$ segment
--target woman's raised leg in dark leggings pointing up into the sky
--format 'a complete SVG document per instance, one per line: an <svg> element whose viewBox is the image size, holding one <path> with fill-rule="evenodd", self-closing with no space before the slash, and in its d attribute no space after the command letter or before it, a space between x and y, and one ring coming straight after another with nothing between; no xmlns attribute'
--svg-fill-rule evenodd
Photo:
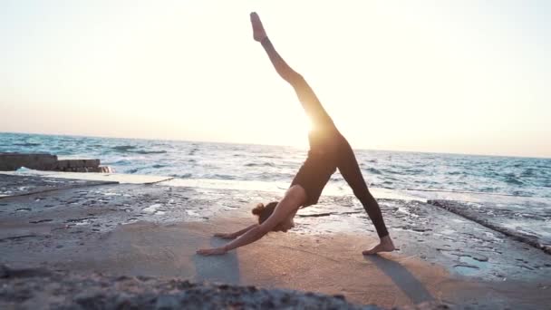
<svg viewBox="0 0 551 310"><path fill-rule="evenodd" d="M266 51L270 61L274 65L275 71L286 82L289 82L295 89L298 99L302 103L304 111L312 119L314 126L332 126L334 127L333 120L327 111L325 111L322 103L315 96L314 91L304 80L303 76L296 73L285 60L275 51L274 45L270 42L264 26L260 21L260 17L256 13L251 13L251 24L253 25L253 37L257 42L262 44Z"/></svg>

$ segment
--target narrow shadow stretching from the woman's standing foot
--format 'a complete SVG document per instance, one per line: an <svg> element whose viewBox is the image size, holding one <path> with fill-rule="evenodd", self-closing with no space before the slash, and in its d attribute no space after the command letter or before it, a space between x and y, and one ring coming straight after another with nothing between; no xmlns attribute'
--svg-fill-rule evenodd
<svg viewBox="0 0 551 310"><path fill-rule="evenodd" d="M391 259L380 257L378 255L366 256L365 260L371 261L375 266L378 266L382 272L389 276L396 286L401 291L410 297L414 304L420 304L422 302L430 302L434 300L434 297L430 295L430 292L423 286L423 284L411 275L410 271L400 263Z"/></svg>

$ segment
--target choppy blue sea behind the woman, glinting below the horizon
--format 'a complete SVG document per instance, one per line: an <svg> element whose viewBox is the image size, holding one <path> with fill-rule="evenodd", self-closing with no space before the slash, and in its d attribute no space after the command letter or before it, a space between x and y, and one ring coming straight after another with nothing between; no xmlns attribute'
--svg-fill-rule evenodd
<svg viewBox="0 0 551 310"><path fill-rule="evenodd" d="M397 197L465 201L465 208L492 210L479 212L480 217L493 217L551 245L551 159L354 151L372 189L385 189ZM100 159L116 173L168 176L196 186L281 191L288 188L307 149L0 132L0 152ZM327 193L351 195L352 191L337 172L324 190Z"/></svg>

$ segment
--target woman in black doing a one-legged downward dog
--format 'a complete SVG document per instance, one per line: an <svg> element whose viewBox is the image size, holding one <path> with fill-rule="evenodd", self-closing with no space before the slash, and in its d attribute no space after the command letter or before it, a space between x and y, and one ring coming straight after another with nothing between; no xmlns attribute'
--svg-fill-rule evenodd
<svg viewBox="0 0 551 310"><path fill-rule="evenodd" d="M299 73L295 73L275 51L256 13L251 14L251 24L255 40L264 47L275 71L293 86L304 111L312 119L313 129L308 135L310 150L291 187L285 192L285 197L279 202L271 202L266 206L259 204L253 209L253 214L258 216L258 224L231 234L215 234L216 237L238 238L224 247L200 249L198 254L225 254L229 250L255 242L270 231L285 232L293 228L295 226L293 218L298 208L317 203L325 184L337 168L353 189L356 198L362 202L381 239L378 245L363 251L362 254L393 251L394 245L384 225L381 209L367 189L348 141L337 130L331 117L304 78Z"/></svg>

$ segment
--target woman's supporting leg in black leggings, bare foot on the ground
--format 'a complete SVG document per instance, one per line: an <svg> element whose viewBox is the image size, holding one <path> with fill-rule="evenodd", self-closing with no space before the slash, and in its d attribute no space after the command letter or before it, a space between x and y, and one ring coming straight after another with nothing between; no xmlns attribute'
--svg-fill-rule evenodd
<svg viewBox="0 0 551 310"><path fill-rule="evenodd" d="M373 254L382 251L394 250L389 232L382 219L381 208L377 200L375 200L365 184L365 180L362 176L362 171L358 166L354 152L346 139L343 138L342 145L339 148L339 154L337 155L338 168L343 175L344 180L353 189L353 193L357 199L360 199L362 206L367 212L367 215L372 219L372 223L377 230L377 235L381 238L381 244L373 247L371 250L364 251L363 254Z"/></svg>

